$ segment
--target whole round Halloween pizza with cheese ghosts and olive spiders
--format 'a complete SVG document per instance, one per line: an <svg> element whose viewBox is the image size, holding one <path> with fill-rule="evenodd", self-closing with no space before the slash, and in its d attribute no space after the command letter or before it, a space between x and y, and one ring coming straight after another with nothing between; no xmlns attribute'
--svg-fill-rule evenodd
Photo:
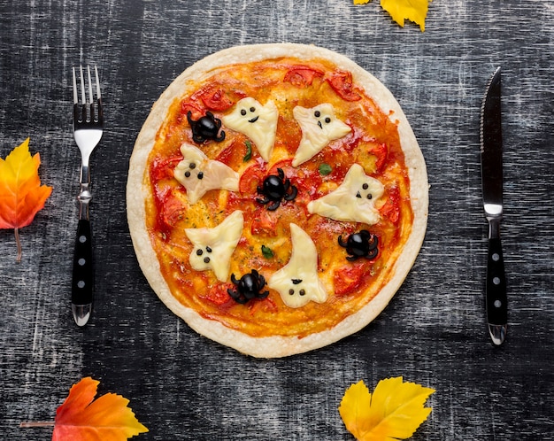
<svg viewBox="0 0 554 441"><path fill-rule="evenodd" d="M261 44L190 66L135 143L127 217L152 289L255 357L349 336L404 282L427 171L380 81L331 50Z"/></svg>

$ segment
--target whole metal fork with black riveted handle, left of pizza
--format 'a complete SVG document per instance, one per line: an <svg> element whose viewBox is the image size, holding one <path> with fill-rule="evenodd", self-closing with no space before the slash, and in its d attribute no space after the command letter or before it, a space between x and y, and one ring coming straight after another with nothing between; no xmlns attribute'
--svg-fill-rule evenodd
<svg viewBox="0 0 554 441"><path fill-rule="evenodd" d="M90 154L102 138L104 131L104 113L102 111L102 97L100 95L100 81L98 70L94 67L96 85L96 104L94 101L93 81L90 75L90 66L87 66L87 84L83 67L78 71L73 67L73 137L81 151L81 191L79 201L79 223L77 238L73 254L73 281L71 303L73 319L78 326L87 324L92 313L94 297L94 267L92 261L92 234L88 217L88 205L92 199L90 193L90 168L88 160ZM78 74L76 74L78 72ZM78 83L80 88L78 88ZM79 93L81 89L81 94ZM88 89L88 94L85 93ZM81 102L79 96L81 95Z"/></svg>

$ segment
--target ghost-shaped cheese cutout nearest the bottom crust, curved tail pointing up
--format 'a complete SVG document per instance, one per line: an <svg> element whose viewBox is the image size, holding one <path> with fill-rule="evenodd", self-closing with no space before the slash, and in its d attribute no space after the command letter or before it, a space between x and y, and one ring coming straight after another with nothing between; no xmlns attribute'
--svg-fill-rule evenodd
<svg viewBox="0 0 554 441"><path fill-rule="evenodd" d="M287 265L275 272L267 286L277 290L285 305L297 308L309 301L323 303L327 290L318 277L318 251L312 238L298 227L290 224L292 254Z"/></svg>

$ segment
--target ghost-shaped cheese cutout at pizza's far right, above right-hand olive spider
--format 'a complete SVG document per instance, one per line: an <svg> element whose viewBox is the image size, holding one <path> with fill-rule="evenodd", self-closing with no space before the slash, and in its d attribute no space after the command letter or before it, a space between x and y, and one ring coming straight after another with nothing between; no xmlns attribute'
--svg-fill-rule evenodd
<svg viewBox="0 0 554 441"><path fill-rule="evenodd" d="M375 201L383 195L383 185L368 176L358 164L350 166L342 184L323 197L308 204L310 213L334 219L335 221L377 223L381 216L375 208Z"/></svg>

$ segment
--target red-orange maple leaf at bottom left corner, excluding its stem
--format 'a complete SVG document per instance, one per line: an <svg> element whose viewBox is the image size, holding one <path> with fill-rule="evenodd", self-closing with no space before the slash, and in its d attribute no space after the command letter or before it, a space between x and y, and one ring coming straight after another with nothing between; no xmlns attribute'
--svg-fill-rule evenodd
<svg viewBox="0 0 554 441"><path fill-rule="evenodd" d="M99 383L86 377L73 384L56 412L52 441L119 441L148 432L127 398L106 393L93 401Z"/></svg>

